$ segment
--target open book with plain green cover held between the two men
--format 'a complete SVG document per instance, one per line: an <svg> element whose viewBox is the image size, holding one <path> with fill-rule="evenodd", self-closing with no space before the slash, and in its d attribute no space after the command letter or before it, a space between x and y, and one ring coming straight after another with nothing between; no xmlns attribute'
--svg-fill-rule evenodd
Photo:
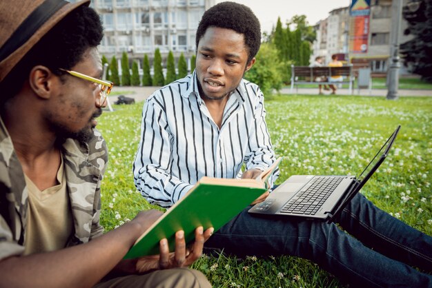
<svg viewBox="0 0 432 288"><path fill-rule="evenodd" d="M186 243L195 239L195 229L215 231L268 190L268 178L282 158L278 158L255 179L203 177L173 207L170 207L130 248L125 259L159 254L159 241L168 239L175 248L175 232L184 230Z"/></svg>

